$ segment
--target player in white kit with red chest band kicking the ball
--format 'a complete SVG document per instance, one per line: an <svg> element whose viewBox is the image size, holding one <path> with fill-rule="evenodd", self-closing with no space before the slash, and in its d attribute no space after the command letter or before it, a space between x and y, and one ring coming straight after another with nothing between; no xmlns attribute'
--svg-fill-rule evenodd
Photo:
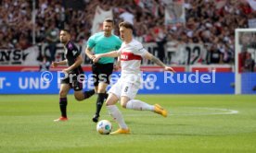
<svg viewBox="0 0 256 153"><path fill-rule="evenodd" d="M141 100L134 100L136 93L140 87L140 65L142 58L153 61L155 64L160 65L165 71L174 72L172 67L164 65L160 60L148 53L139 41L133 39L133 25L129 22L122 22L119 25L120 34L122 38L122 46L118 51L110 53L96 54L94 62L96 63L101 57L118 57L121 59L122 75L118 82L109 89L109 97L106 101L107 109L114 120L119 124L120 128L110 133L115 134L129 134L130 129L125 124L122 113L115 105L118 100L121 101L123 108L138 110L138 111L151 111L156 112L167 117L168 112L163 109L159 104L149 105Z"/></svg>

